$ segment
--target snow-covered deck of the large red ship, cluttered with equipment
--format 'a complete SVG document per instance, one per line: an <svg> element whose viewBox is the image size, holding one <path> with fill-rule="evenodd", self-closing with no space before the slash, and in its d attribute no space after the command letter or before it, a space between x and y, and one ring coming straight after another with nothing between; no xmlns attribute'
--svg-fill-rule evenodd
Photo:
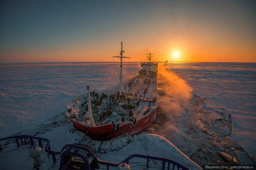
<svg viewBox="0 0 256 170"><path fill-rule="evenodd" d="M120 125L136 120L154 111L157 107L156 83L157 76L150 78L146 72L124 85L122 93L91 92L93 118L96 126L118 122ZM149 80L150 79L150 80ZM74 114L78 122L83 121L83 115L88 110L88 95L82 95L67 105L68 115Z"/></svg>

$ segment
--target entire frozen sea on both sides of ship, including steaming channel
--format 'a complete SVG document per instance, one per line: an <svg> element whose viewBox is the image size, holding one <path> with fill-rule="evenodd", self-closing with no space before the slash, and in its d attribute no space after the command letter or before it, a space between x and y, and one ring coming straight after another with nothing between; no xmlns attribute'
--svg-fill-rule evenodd
<svg viewBox="0 0 256 170"><path fill-rule="evenodd" d="M124 64L123 77L131 78L139 67ZM119 68L118 63L1 64L0 137L65 111L87 85L112 91ZM256 153L255 64L160 64L158 96L156 119L142 133L166 137L199 164L221 162L219 151Z"/></svg>

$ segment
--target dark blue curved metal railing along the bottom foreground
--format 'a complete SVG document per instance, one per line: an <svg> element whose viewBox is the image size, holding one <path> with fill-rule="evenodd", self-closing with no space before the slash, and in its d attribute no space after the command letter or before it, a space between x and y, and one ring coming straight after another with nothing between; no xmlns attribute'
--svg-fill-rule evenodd
<svg viewBox="0 0 256 170"><path fill-rule="evenodd" d="M56 163L55 156L60 155L60 157L61 157L60 169L67 168L67 165L64 163L64 160L63 160L64 156L75 156L75 157L80 157L84 161L85 170L90 170L90 162L91 162L90 160L94 160L98 164L105 165L106 169L108 170L109 167L117 167L121 163L129 164L129 161L131 161L131 159L133 159L133 158L146 159L147 162L145 163L145 167L147 169L150 168L150 163L149 163L150 161L160 161L162 163L162 167L159 167L161 170L170 170L170 169L171 170L174 170L174 169L179 170L180 168L182 170L189 170L182 164L177 163L171 159L168 159L165 157L152 157L152 156L141 155L141 154L131 155L131 156L125 158L124 160L122 160L121 162L103 161L95 155L95 153L91 147L89 147L88 145L84 145L84 144L66 144L61 149L61 151L54 151L54 150L51 150L50 141L48 139L41 138L41 137L29 136L29 135L6 137L6 138L0 139L0 141L6 141L6 140L10 140L10 139L14 139L17 147L19 147L20 145L30 144L31 146L38 145L41 148L45 148L45 151L48 154L52 155L53 163ZM7 144L9 144L9 142L6 142L5 144L0 144L0 150L3 149L3 148L1 148L2 145L7 145ZM89 159L89 158L92 158L92 159Z"/></svg>

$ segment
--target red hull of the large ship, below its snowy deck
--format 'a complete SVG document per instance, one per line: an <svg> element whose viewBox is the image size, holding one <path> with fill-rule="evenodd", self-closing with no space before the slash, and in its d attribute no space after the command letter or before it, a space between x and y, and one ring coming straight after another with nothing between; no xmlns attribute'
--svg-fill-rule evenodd
<svg viewBox="0 0 256 170"><path fill-rule="evenodd" d="M155 119L156 109L147 115L145 115L140 120L136 121L135 124L128 122L120 125L119 129L114 131L113 124L105 124L102 126L88 127L80 124L76 120L70 118L71 122L81 131L84 131L89 137L94 140L108 140L112 137L117 137L123 134L127 136L133 136L141 132L143 129L147 128L149 124Z"/></svg>

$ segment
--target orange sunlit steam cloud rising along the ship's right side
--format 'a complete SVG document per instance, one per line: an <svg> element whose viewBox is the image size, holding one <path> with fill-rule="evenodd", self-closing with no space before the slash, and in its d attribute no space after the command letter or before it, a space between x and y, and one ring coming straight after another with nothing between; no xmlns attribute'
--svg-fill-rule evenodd
<svg viewBox="0 0 256 170"><path fill-rule="evenodd" d="M169 72L163 65L158 71L159 108L153 124L154 133L159 133L175 140L179 118L182 112L191 106L192 88L174 72ZM155 131L154 131L155 130Z"/></svg>

